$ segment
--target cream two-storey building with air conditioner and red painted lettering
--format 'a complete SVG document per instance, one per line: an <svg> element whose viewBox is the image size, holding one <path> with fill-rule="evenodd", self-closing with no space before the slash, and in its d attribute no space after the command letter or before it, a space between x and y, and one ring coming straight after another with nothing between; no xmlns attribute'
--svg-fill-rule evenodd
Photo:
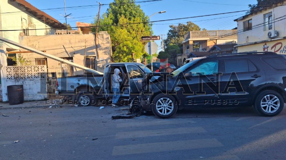
<svg viewBox="0 0 286 160"><path fill-rule="evenodd" d="M245 15L237 21L238 52L286 54L286 1Z"/></svg>

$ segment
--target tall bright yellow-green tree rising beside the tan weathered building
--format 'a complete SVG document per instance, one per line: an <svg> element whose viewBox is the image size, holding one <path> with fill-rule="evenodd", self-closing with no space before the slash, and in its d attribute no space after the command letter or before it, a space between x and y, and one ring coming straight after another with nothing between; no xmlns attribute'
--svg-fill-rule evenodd
<svg viewBox="0 0 286 160"><path fill-rule="evenodd" d="M115 62L131 62L134 58L142 58L147 53L141 41L141 36L152 35L152 24L142 23L149 21L140 5L135 4L135 0L114 0L110 3L107 11L100 17L99 31L107 31L112 41L113 59ZM131 25L118 25L138 23ZM95 17L94 25L97 25ZM92 28L95 32L96 28Z"/></svg>

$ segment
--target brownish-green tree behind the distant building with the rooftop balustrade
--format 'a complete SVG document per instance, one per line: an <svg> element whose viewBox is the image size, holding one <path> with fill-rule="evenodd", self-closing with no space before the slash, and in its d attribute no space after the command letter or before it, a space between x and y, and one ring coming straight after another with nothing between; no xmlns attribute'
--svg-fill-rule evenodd
<svg viewBox="0 0 286 160"><path fill-rule="evenodd" d="M200 27L192 22L187 24L179 23L178 25L170 25L167 33L167 39L164 40L164 45L178 45L184 40L184 35L189 31L200 31Z"/></svg>

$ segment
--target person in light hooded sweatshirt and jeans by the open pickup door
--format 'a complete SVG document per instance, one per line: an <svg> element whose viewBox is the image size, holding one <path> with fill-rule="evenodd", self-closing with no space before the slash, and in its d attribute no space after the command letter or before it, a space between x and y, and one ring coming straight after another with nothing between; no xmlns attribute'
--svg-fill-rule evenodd
<svg viewBox="0 0 286 160"><path fill-rule="evenodd" d="M113 98L112 98L112 107L119 107L116 105L119 97L120 97L120 89L119 89L119 82L122 81L122 79L119 76L120 71L118 68L114 69L114 75L112 75L112 91L113 91Z"/></svg>

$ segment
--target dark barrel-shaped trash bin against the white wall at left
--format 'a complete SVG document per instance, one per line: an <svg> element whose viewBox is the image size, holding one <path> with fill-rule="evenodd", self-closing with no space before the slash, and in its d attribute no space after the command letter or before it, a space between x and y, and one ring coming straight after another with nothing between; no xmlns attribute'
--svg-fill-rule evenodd
<svg viewBox="0 0 286 160"><path fill-rule="evenodd" d="M23 85L7 86L7 95L10 105L22 104L24 102Z"/></svg>

